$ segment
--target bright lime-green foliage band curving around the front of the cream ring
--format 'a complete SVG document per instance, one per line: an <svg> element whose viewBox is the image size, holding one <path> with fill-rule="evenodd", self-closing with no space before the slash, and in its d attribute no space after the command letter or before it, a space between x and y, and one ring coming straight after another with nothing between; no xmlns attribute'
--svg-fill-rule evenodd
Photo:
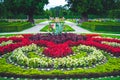
<svg viewBox="0 0 120 80"><path fill-rule="evenodd" d="M84 68L77 68L75 70L50 70L50 71L42 71L42 70L36 70L36 69L23 69L19 66L11 65L6 62L6 58L8 57L5 56L4 58L0 59L0 74L2 73L3 76L7 76L6 74L14 74L12 77L19 77L19 75L24 75L24 77L32 77L32 78L38 78L37 75L39 75L39 78L44 78L44 76L48 76L48 78L52 78L50 76L60 76L59 78L66 78L65 76L69 76L70 78L75 77L77 78L90 78L90 77L95 77L95 75L98 75L96 77L100 76L110 76L107 75L107 72L114 72L114 71L119 71L119 65L120 59L119 58L112 58L108 57L108 61L103 64L103 65L97 65L95 68L90 68L90 69L84 69ZM104 74L105 73L105 74ZM5 74L5 75L4 75ZM93 75L85 75L85 74L93 74ZM103 74L103 75L102 75ZM112 73L114 74L114 73ZM31 76L34 75L34 76ZM64 76L63 76L64 75ZM78 76L77 76L78 75Z"/></svg>

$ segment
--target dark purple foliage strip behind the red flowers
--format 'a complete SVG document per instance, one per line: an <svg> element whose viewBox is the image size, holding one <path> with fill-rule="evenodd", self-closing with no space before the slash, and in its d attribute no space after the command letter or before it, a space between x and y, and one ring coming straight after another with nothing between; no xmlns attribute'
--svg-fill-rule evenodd
<svg viewBox="0 0 120 80"><path fill-rule="evenodd" d="M46 41L51 41L56 44L59 43L64 43L66 41L79 41L79 40L85 40L86 37L79 35L79 34L74 34L74 33L62 33L60 35L53 35L53 34L35 34L29 38L32 41L37 41L37 40L46 40Z"/></svg>

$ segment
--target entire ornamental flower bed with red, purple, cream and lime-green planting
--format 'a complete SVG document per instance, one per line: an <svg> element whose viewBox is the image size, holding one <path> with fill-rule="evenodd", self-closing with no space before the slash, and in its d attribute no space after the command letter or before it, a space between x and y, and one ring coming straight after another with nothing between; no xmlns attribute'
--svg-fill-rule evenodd
<svg viewBox="0 0 120 80"><path fill-rule="evenodd" d="M102 38L98 34L24 34L19 37L2 37L0 38L0 57L2 57L0 58L0 75L14 74L13 77L116 76L120 73L119 44L119 39ZM9 67L12 69L8 69ZM17 69L21 73L11 71Z"/></svg>

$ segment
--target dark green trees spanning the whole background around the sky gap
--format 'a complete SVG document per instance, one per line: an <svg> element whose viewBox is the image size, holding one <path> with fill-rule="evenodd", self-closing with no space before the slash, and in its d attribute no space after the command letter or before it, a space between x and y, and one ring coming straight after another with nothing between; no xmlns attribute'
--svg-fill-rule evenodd
<svg viewBox="0 0 120 80"><path fill-rule="evenodd" d="M82 21L88 20L88 15L120 15L120 0L66 0L67 5L57 6L44 11L48 0L2 0L0 15L27 15L28 21L34 23L34 15L52 17L81 16Z"/></svg>

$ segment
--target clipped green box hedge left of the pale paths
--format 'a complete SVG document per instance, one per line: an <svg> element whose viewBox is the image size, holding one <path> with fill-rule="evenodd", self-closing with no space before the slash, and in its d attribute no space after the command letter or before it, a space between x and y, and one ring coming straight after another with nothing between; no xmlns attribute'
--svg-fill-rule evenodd
<svg viewBox="0 0 120 80"><path fill-rule="evenodd" d="M19 32L30 27L29 22L0 22L0 32Z"/></svg>

